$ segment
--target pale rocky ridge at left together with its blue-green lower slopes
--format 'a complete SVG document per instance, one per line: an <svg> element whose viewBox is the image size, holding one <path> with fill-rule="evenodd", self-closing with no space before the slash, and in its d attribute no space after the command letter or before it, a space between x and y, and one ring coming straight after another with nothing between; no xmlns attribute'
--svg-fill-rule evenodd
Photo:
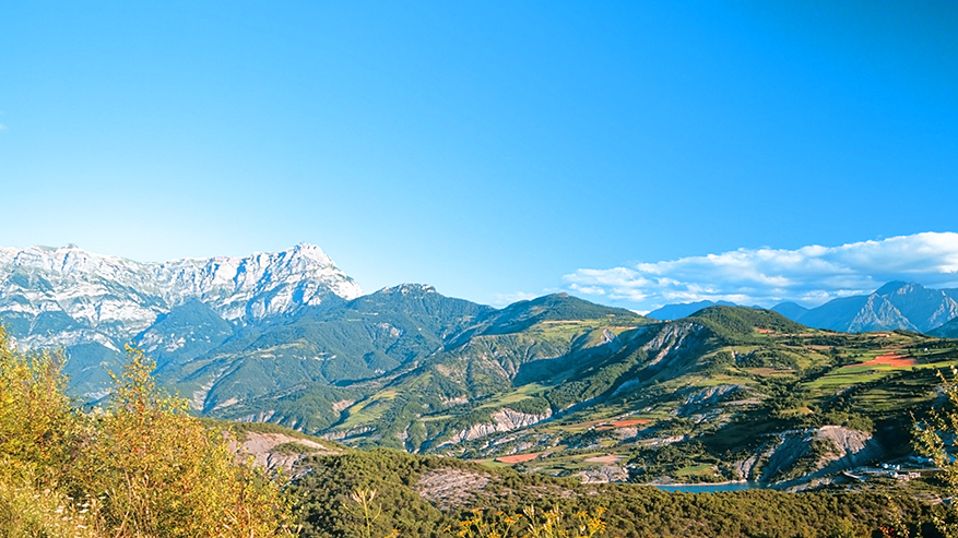
<svg viewBox="0 0 958 538"><path fill-rule="evenodd" d="M127 343L151 352L186 348L198 355L237 327L360 295L331 258L307 243L246 258L163 263L75 246L0 248L0 320L21 348L64 348L68 373L91 398L105 381L103 366ZM181 333L169 331L174 325Z"/></svg>

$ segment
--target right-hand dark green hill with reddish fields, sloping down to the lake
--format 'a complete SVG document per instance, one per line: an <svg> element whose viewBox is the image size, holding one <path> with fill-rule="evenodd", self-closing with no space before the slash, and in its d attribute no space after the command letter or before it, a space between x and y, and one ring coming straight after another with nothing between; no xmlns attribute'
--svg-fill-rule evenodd
<svg viewBox="0 0 958 538"><path fill-rule="evenodd" d="M578 399L571 413L445 452L599 480L610 479L602 469L636 481L807 480L908 453L911 414L958 358L953 340L814 331L726 307L619 338L540 393L554 410ZM532 458L502 457L515 453Z"/></svg>

